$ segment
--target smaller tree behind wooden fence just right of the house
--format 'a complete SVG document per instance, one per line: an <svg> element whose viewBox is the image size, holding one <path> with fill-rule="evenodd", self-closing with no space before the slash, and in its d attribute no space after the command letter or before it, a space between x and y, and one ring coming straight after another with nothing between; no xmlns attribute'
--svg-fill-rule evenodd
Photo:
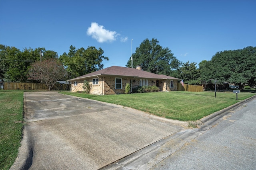
<svg viewBox="0 0 256 170"><path fill-rule="evenodd" d="M180 78L184 80L186 84L201 84L200 81L200 72L196 68L196 63L184 63L180 68L178 68L180 72Z"/></svg>

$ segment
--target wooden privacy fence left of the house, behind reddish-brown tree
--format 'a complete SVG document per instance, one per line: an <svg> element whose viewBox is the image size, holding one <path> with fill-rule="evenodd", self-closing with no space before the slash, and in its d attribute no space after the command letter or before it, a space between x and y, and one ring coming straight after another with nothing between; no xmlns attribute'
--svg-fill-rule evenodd
<svg viewBox="0 0 256 170"><path fill-rule="evenodd" d="M70 90L71 84L56 83L52 90ZM4 90L48 90L44 83L4 82Z"/></svg>

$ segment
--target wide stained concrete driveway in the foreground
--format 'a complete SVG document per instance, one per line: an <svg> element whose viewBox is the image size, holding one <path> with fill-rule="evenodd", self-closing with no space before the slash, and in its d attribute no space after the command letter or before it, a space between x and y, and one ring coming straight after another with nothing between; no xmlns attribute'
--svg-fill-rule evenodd
<svg viewBox="0 0 256 170"><path fill-rule="evenodd" d="M25 92L24 112L31 170L102 168L184 129L142 111L57 92Z"/></svg>

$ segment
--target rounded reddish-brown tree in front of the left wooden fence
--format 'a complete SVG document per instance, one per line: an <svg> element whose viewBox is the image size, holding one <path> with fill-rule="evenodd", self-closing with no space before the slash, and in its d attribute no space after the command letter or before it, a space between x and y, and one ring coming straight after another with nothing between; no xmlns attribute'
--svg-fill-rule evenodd
<svg viewBox="0 0 256 170"><path fill-rule="evenodd" d="M42 81L49 90L52 90L54 84L64 76L64 66L57 59L35 62L28 72L28 79Z"/></svg>

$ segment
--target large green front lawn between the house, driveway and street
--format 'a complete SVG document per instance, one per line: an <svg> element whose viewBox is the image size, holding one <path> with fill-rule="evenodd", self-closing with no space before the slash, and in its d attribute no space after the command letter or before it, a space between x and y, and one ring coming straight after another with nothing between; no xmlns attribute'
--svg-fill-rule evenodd
<svg viewBox="0 0 256 170"><path fill-rule="evenodd" d="M84 95L84 98L132 107L150 114L182 121L201 119L204 116L255 95L252 93L241 93L238 94L238 99L240 100L236 100L236 94L232 92L218 93L217 98L214 97L214 92L178 91L103 96L72 92L62 93L78 97L83 97Z"/></svg>

